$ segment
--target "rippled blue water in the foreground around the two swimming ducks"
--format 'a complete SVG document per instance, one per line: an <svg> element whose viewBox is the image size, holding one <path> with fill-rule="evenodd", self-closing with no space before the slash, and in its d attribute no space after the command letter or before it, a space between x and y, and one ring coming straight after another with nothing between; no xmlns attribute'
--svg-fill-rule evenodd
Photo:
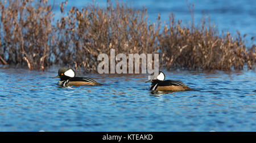
<svg viewBox="0 0 256 143"><path fill-rule="evenodd" d="M61 88L57 68L0 68L0 131L256 131L255 71L165 71L199 91L152 94L147 75Z"/></svg>

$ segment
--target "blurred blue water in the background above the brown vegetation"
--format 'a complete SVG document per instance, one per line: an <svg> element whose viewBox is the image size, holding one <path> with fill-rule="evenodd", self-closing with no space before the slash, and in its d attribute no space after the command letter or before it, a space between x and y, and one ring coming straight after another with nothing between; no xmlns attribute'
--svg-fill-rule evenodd
<svg viewBox="0 0 256 143"><path fill-rule="evenodd" d="M115 1L112 1L115 3ZM188 25L189 21L192 21L189 8L185 0L122 0L119 2L127 2L129 6L134 8L147 8L148 20L154 23L158 18L158 14L161 16L162 24L164 21L169 22L169 15L174 13L176 20L182 20L185 25ZM53 2L51 2L53 3ZM66 9L69 10L72 6L85 7L91 4L91 0L72 0L67 3ZM105 0L96 0L101 7L106 7ZM210 16L210 23L214 24L219 34L221 31L237 34L237 31L243 36L247 34L245 40L246 45L256 44L256 1L254 0L212 0L212 1L200 1L200 0L188 0L188 4L195 4L195 24L199 24L203 15ZM59 19L60 8L59 2L55 2L56 15L55 18ZM208 22L208 20L207 20ZM251 41L251 37L255 37Z"/></svg>

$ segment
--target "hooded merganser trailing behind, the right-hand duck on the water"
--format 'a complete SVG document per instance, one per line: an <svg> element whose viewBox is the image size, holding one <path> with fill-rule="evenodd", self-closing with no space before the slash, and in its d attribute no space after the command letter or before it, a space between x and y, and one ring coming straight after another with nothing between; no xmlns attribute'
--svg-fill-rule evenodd
<svg viewBox="0 0 256 143"><path fill-rule="evenodd" d="M185 90L193 90L181 81L164 80L166 77L163 72L159 71L159 75L154 80L148 80L146 83L151 82L150 90L152 91L172 91L179 92Z"/></svg>

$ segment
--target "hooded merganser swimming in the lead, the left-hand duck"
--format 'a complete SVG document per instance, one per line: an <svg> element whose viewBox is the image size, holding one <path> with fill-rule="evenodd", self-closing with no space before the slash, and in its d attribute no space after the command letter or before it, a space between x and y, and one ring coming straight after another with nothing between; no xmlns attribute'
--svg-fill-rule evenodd
<svg viewBox="0 0 256 143"><path fill-rule="evenodd" d="M72 68L63 67L58 71L58 75L53 78L60 78L59 85L67 86L80 86L80 85L101 85L97 81L88 77L76 77L76 73Z"/></svg>

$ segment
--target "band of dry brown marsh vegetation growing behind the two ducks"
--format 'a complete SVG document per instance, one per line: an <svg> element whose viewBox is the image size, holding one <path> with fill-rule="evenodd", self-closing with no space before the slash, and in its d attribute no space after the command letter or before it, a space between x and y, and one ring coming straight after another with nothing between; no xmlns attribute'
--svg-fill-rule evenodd
<svg viewBox="0 0 256 143"><path fill-rule="evenodd" d="M90 72L97 71L98 54L109 54L110 49L126 55L159 53L160 66L168 69L232 70L253 68L256 62L255 45L246 46L239 32L236 37L220 36L205 18L196 26L192 5L188 26L174 14L169 23L162 25L159 15L151 24L146 8L125 3L100 7L92 2L70 10L65 5L60 3L61 16L55 20L47 0L1 1L0 63L30 70L57 64Z"/></svg>

